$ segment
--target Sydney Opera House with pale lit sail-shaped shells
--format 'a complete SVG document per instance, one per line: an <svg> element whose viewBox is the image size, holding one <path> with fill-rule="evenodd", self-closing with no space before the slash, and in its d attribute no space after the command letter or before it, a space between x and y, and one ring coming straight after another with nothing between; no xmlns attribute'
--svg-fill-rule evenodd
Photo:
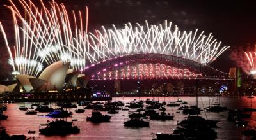
<svg viewBox="0 0 256 140"><path fill-rule="evenodd" d="M70 63L64 64L58 61L46 67L38 78L26 74L17 74L17 83L12 85L0 85L0 92L46 92L72 90L84 88L88 83L88 78L84 74L68 69Z"/></svg>

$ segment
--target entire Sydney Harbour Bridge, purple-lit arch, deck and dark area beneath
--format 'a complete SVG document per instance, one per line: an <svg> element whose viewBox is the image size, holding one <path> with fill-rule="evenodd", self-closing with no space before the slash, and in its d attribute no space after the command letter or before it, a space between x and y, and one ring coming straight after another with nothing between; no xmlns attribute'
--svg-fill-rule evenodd
<svg viewBox="0 0 256 140"><path fill-rule="evenodd" d="M123 94L129 93L124 91L136 89L132 91L142 95L147 95L145 92L195 95L198 85L211 87L211 95L216 94L216 89L212 88L220 90L223 88L221 86L227 86L230 92L235 90L235 80L227 73L194 60L166 54L140 53L115 57L87 67L84 72L91 78L89 85L96 86L98 90ZM167 90L168 84L172 85L173 90ZM156 85L160 89L156 89ZM180 91L178 88L183 89ZM227 88L225 90L227 92Z"/></svg>

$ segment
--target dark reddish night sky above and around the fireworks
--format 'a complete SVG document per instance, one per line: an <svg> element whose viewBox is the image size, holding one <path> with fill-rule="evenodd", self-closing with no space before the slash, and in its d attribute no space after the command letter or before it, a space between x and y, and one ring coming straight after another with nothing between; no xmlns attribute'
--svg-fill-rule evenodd
<svg viewBox="0 0 256 140"><path fill-rule="evenodd" d="M13 0L15 1L15 0ZM172 21L182 30L212 32L222 45L247 46L253 44L256 37L256 4L253 1L236 0L56 0L64 3L68 10L89 8L89 30L115 24L122 27L127 22L161 24L164 20ZM34 3L38 1L34 0ZM0 0L0 21L12 40L12 17L3 6L7 0ZM228 72L234 66L230 60L230 50L223 53L211 66ZM10 67L6 65L6 46L0 35L0 78L8 76Z"/></svg>

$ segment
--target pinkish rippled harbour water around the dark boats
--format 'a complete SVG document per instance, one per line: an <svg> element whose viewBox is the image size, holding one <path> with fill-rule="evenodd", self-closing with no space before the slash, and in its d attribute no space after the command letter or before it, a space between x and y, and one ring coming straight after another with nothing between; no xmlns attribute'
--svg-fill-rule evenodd
<svg viewBox="0 0 256 140"><path fill-rule="evenodd" d="M173 102L177 97L140 97L141 100L145 101L146 99L154 99L155 101L166 101ZM182 101L188 102L188 106L196 104L196 97L180 97ZM113 97L113 101L139 101L139 97ZM208 107L209 104L216 103L216 97L198 97L198 106L200 108ZM103 101L104 102L104 101ZM256 98L248 99L247 97L220 97L220 102L228 108L240 108L241 106L256 108ZM241 104L242 102L242 104ZM186 116L182 113L177 113L177 108L179 107L166 107L168 113L174 113L174 119L170 121L159 121L159 120L150 120L150 127L143 128L129 128L124 127L123 123L125 118L128 117L129 111L120 110L118 114L111 115L111 122L106 123L92 123L87 122L86 117L91 116L92 109L86 109L84 113L75 113L75 109L72 108L73 119L77 119L74 122L74 125L77 125L80 128L79 134L72 134L65 137L61 136L43 136L40 135L38 130L40 129L40 124L47 123L47 120L52 120L52 118L46 116L38 115L47 115L47 113L38 113L37 115L25 115L25 111L20 111L19 106L28 106L30 107L32 103L9 103L7 111L4 111L5 115L8 115L8 120L2 120L1 125L6 128L8 134L24 134L27 137L34 139L152 139L154 134L157 132L162 133L172 133L173 129L177 127L177 123L181 120L184 120ZM73 102L76 104L76 102ZM55 108L55 103L51 104L52 108ZM77 106L77 108L83 108ZM130 111L135 111L136 109L130 109ZM102 112L106 114L106 112ZM246 129L246 127L236 127L234 122L227 121L228 112L221 113L210 113L202 111L200 116L204 118L209 118L211 120L220 120L217 123L218 128L216 132L218 134L217 139L250 139L250 137L243 136L241 131ZM67 118L71 121L72 118ZM256 126L256 113L252 113L250 122L248 123L249 127ZM35 134L28 134L29 130L35 130ZM152 137L153 135L153 137Z"/></svg>

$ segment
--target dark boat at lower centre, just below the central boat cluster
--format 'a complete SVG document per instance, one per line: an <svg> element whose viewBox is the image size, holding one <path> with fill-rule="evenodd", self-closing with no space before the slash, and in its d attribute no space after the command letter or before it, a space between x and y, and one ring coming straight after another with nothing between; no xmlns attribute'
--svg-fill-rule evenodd
<svg viewBox="0 0 256 140"><path fill-rule="evenodd" d="M131 118L124 122L125 127L149 127L149 122L142 118Z"/></svg>

